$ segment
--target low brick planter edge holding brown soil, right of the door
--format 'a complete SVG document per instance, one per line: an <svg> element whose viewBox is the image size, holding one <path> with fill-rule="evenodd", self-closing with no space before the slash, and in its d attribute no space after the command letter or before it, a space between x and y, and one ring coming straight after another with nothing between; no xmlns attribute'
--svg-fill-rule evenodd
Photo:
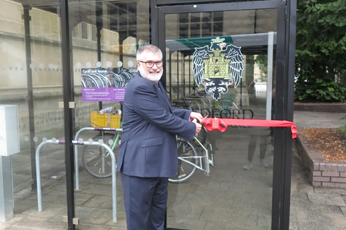
<svg viewBox="0 0 346 230"><path fill-rule="evenodd" d="M295 141L298 154L306 166L313 186L346 188L346 162L328 162L304 142L304 137Z"/></svg>

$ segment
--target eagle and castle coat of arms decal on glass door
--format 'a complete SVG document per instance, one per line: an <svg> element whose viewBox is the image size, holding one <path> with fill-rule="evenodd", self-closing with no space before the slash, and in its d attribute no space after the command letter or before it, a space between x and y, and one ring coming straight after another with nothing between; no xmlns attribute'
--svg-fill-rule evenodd
<svg viewBox="0 0 346 230"><path fill-rule="evenodd" d="M228 86L237 88L244 70L241 47L226 46L225 39L212 39L210 48L194 48L192 68L197 86L203 84L206 93L212 93L215 100L221 93L228 92ZM226 48L224 48L226 46Z"/></svg>

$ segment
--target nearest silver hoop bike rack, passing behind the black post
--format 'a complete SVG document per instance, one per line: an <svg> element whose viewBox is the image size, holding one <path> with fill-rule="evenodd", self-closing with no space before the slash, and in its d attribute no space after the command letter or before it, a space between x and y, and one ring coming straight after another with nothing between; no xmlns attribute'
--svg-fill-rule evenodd
<svg viewBox="0 0 346 230"><path fill-rule="evenodd" d="M53 140L47 140L46 142L42 142L39 144L36 150L36 180L37 180L37 205L38 205L38 211L39 213L42 212L42 191L41 191L41 171L39 170L39 151L41 150L42 146L46 144L64 144L64 140L56 140L53 142ZM100 146L103 148L106 148L109 153L111 153L111 189L112 189L112 201L113 201L113 222L117 222L117 216L116 216L116 157L111 151L111 148L107 146L107 144L100 144L99 142L78 142L73 140L73 144L76 145L94 145L94 146ZM78 159L75 160L75 162L78 162Z"/></svg>

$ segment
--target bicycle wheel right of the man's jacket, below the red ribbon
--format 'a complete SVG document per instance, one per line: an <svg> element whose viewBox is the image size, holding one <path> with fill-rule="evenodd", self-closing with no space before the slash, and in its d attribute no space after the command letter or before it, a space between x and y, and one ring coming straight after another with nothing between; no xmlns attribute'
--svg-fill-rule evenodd
<svg viewBox="0 0 346 230"><path fill-rule="evenodd" d="M189 180L192 175L196 172L196 167L192 164L198 165L199 158L197 158L197 147L190 142L190 140L187 140L182 137L178 137L177 140L177 147L178 147L178 171L176 173L176 176L173 178L169 178L168 182L179 184L183 183L186 180ZM186 158L181 158L186 157ZM183 161L182 159L192 163L189 164L188 162Z"/></svg>

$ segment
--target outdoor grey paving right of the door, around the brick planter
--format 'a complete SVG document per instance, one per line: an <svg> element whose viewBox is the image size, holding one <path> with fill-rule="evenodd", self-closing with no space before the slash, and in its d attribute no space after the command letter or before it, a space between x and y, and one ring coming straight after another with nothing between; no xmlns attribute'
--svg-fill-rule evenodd
<svg viewBox="0 0 346 230"><path fill-rule="evenodd" d="M298 128L338 128L345 124L343 113L295 111ZM314 188L293 145L291 184L291 230L346 229L346 190Z"/></svg>

